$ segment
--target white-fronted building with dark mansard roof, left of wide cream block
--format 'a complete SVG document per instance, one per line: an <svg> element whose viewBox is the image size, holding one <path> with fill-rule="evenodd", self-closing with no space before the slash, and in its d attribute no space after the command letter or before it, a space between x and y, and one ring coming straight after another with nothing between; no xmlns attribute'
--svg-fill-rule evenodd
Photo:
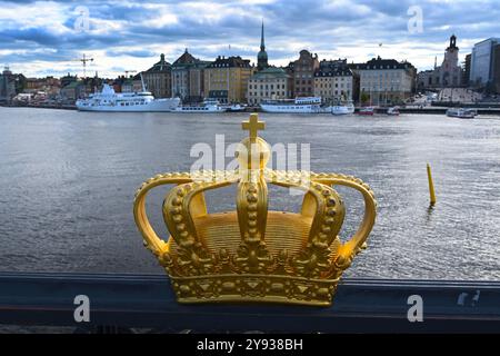
<svg viewBox="0 0 500 356"><path fill-rule="evenodd" d="M322 60L314 72L314 97L327 103L354 100L357 78L347 59Z"/></svg>

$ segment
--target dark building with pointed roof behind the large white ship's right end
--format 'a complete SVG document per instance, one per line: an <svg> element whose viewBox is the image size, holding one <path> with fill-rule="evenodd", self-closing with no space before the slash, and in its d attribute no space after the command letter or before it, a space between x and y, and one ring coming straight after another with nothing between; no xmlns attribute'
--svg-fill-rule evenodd
<svg viewBox="0 0 500 356"><path fill-rule="evenodd" d="M170 98L172 96L172 72L171 65L160 56L160 61L150 69L142 72L146 88L152 92L154 98Z"/></svg>

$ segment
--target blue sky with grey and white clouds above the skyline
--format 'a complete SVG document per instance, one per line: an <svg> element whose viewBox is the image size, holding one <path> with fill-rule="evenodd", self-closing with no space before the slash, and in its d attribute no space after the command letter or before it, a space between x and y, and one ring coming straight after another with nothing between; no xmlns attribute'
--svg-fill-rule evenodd
<svg viewBox="0 0 500 356"><path fill-rule="evenodd" d="M420 14L422 21L420 22ZM361 62L380 55L419 69L442 60L451 33L460 59L473 43L500 37L498 0L172 0L2 1L0 66L27 76L146 70L186 48L254 61L260 22L270 63L287 65L306 48L323 58ZM380 46L382 43L382 46Z"/></svg>

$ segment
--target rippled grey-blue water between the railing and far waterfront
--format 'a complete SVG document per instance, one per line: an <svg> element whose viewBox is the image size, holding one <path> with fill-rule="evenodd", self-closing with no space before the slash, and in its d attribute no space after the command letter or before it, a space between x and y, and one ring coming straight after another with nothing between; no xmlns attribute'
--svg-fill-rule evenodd
<svg viewBox="0 0 500 356"><path fill-rule="evenodd" d="M261 113L268 142L310 142L311 168L356 175L379 201L369 249L348 276L500 279L500 118ZM189 170L197 142L241 140L247 113L83 113L0 108L0 270L162 273L141 243L133 194L158 172ZM229 159L228 159L229 161ZM438 204L429 209L426 164ZM163 237L160 206L148 205ZM346 238L362 212L346 195ZM300 200L273 189L272 208ZM233 190L208 197L230 209Z"/></svg>

